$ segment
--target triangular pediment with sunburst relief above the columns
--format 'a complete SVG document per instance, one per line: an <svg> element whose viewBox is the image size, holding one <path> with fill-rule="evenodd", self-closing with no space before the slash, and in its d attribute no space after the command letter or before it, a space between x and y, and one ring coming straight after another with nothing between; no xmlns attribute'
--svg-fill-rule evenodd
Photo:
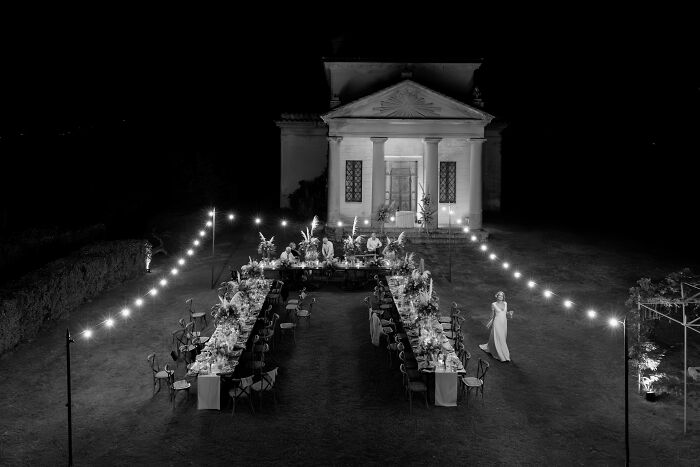
<svg viewBox="0 0 700 467"><path fill-rule="evenodd" d="M333 109L321 118L326 123L334 118L389 118L481 120L488 124L493 116L414 81L404 80Z"/></svg>

